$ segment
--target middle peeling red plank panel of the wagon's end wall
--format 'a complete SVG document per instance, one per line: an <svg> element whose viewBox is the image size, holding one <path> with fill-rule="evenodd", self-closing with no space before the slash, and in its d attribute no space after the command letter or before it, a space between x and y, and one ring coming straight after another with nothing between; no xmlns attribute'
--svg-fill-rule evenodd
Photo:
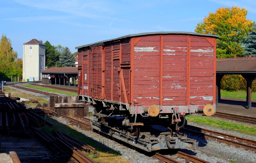
<svg viewBox="0 0 256 163"><path fill-rule="evenodd" d="M187 36L162 36L163 105L187 105Z"/></svg>

